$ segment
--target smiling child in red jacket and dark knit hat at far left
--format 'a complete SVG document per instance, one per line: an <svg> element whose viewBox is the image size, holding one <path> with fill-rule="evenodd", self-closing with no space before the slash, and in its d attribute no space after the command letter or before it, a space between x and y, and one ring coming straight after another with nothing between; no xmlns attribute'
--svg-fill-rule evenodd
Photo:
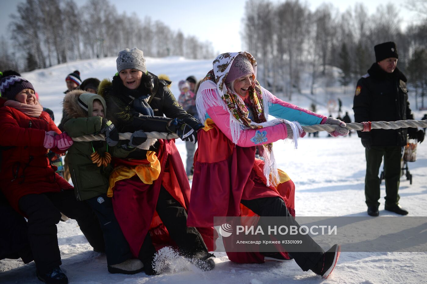
<svg viewBox="0 0 427 284"><path fill-rule="evenodd" d="M0 109L1 191L9 204L28 219L28 238L37 277L46 283L67 283L61 271L56 224L61 212L75 219L94 249L105 244L91 208L77 201L73 187L50 165L48 149L64 153L73 140L61 133L35 97L32 84L3 73L0 92L7 100Z"/></svg>

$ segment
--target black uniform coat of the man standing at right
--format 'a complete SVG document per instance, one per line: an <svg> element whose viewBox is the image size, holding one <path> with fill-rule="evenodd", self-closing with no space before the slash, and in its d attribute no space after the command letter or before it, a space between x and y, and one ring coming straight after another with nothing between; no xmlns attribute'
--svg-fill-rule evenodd
<svg viewBox="0 0 427 284"><path fill-rule="evenodd" d="M387 73L374 63L357 82L354 95L354 122L398 121L413 119L408 102L407 78L395 69ZM408 131L415 128L372 129L357 131L359 137L370 136L373 146L404 146Z"/></svg>

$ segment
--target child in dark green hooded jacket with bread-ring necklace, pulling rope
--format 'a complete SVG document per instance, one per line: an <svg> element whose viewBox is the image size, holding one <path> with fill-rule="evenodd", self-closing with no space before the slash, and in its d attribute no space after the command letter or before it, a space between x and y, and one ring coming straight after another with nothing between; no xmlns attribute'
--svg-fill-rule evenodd
<svg viewBox="0 0 427 284"><path fill-rule="evenodd" d="M64 98L64 112L68 120L64 129L71 137L86 134L109 132L116 133L112 141L75 142L68 149L68 163L74 193L77 200L85 200L94 210L104 232L105 253L107 255L108 272L134 274L143 270L138 259L132 259L129 244L114 216L111 197L107 197L108 177L112 171L111 156L126 157L137 145L146 140L142 131L132 135L129 142L122 140L116 145L118 133L114 125L105 119L105 101L96 94L73 90ZM110 154L111 153L111 154Z"/></svg>

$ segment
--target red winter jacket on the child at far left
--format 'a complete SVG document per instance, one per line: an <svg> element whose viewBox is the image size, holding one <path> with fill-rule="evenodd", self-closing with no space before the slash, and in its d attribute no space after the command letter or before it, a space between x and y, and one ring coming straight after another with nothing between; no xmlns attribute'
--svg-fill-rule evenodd
<svg viewBox="0 0 427 284"><path fill-rule="evenodd" d="M0 123L0 185L16 211L20 212L18 201L24 195L73 189L55 173L57 168L50 165L47 149L43 147L47 131L61 133L49 114L42 112L39 117L29 117L13 107L2 107ZM58 148L52 151L63 152Z"/></svg>

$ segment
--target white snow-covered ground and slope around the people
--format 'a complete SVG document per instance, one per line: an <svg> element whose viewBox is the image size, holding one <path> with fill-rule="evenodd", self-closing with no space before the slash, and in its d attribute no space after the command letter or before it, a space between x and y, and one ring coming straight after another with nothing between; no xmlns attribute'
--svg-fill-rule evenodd
<svg viewBox="0 0 427 284"><path fill-rule="evenodd" d="M211 61L190 61L183 58L147 58L149 71L168 74L174 82L188 75L202 77L211 68ZM55 112L56 123L61 117L61 101L65 90L65 76L75 69L82 72L81 78L90 76L111 78L115 72L115 58L77 61L58 65L46 70L23 74L35 86L41 103ZM339 90L337 87L336 90ZM173 93L178 93L177 83ZM352 93L352 91L350 92ZM308 108L311 95L294 96L292 103ZM336 93L316 94L318 112L326 113L326 102L340 97L343 110L351 111L352 95ZM411 104L412 106L414 104ZM415 118L422 113L416 112ZM297 216L367 216L364 203L365 155L357 135L327 138L304 137L293 144L275 143L275 156L279 168L289 174L296 185L295 208ZM185 162L185 145L176 141ZM401 179L401 205L409 210L409 216L427 216L427 142L418 145L418 159L409 163L413 175L412 185ZM380 216L395 216L383 209L384 183L381 185ZM333 274L324 280L312 272L302 272L294 261L266 264L235 264L228 261L225 253L215 253L216 267L213 271L201 272L183 260L175 260L172 271L161 275L146 276L109 274L105 255L93 252L74 220L58 224L58 242L62 266L70 283L427 283L427 254L425 252L343 252ZM324 248L329 249L329 248ZM40 283L35 278L34 263L24 265L21 261L0 261L0 283Z"/></svg>

